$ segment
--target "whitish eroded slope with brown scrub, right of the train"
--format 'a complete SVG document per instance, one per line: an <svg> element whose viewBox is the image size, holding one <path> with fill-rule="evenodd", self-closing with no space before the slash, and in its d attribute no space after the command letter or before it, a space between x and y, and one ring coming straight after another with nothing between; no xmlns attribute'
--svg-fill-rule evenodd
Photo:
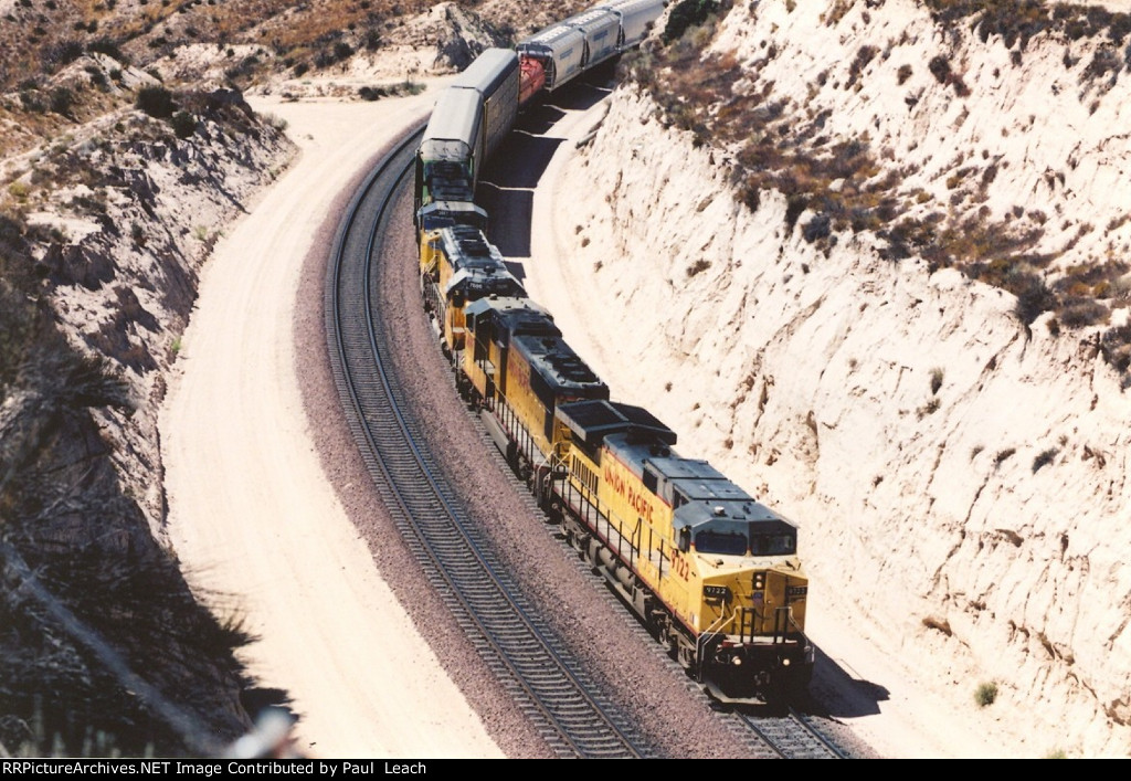
<svg viewBox="0 0 1131 781"><path fill-rule="evenodd" d="M798 520L828 624L995 684L1011 754L1125 756L1126 42L943 5L735 3L683 38L717 93L619 94L566 173L571 342Z"/></svg>

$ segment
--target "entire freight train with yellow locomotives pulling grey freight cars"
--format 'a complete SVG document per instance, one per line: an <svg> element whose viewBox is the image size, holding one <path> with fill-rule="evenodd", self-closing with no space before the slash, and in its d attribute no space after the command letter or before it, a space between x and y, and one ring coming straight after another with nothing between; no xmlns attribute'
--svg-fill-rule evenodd
<svg viewBox="0 0 1131 781"><path fill-rule="evenodd" d="M638 44L666 3L608 2L491 49L437 101L416 155L421 292L456 385L566 539L717 700L803 690L797 529L675 432L614 402L486 239L475 188L519 110Z"/></svg>

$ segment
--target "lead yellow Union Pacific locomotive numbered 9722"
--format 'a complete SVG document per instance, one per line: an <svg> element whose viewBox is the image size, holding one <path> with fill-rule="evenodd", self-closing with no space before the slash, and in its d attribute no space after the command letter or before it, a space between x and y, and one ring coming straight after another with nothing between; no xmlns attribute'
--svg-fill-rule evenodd
<svg viewBox="0 0 1131 781"><path fill-rule="evenodd" d="M569 539L724 702L808 686L809 581L797 529L706 461L682 458L647 410L563 404L551 508Z"/></svg>

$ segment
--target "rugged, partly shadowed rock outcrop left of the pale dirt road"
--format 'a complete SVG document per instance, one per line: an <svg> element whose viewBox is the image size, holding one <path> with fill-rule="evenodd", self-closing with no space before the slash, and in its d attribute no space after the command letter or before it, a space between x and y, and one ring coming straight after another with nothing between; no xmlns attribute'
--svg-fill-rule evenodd
<svg viewBox="0 0 1131 781"><path fill-rule="evenodd" d="M292 147L238 93L173 97L180 122L121 111L25 157L0 217L14 750L58 733L97 752L100 732L119 750L199 753L248 726L235 606L211 606L217 623L197 604L165 541L156 417L201 263Z"/></svg>

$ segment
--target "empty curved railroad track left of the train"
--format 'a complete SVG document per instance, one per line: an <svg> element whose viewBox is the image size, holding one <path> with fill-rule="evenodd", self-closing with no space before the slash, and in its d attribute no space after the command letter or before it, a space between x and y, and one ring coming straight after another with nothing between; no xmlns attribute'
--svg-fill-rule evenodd
<svg viewBox="0 0 1131 781"><path fill-rule="evenodd" d="M408 548L520 711L563 757L641 757L631 720L603 696L528 600L442 478L391 360L371 274L423 128L366 179L339 228L326 284L330 362L365 465ZM400 225L394 230L404 230ZM405 261L409 261L406 258Z"/></svg>

